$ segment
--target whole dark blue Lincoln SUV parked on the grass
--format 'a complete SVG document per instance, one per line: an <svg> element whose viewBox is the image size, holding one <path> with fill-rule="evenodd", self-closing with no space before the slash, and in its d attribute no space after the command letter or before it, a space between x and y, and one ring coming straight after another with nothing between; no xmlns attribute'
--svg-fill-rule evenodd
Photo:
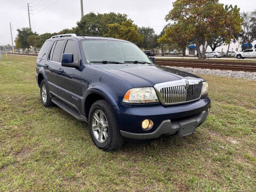
<svg viewBox="0 0 256 192"><path fill-rule="evenodd" d="M203 78L155 65L133 43L114 38L47 39L36 80L43 105L87 122L93 142L106 151L121 147L124 138L194 133L211 105Z"/></svg>

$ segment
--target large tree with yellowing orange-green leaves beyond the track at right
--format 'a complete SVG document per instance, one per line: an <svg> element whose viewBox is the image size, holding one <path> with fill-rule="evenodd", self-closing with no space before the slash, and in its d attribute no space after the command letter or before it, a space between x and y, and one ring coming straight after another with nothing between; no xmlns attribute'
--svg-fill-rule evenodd
<svg viewBox="0 0 256 192"><path fill-rule="evenodd" d="M233 33L239 33L242 22L237 6L224 6L219 0L177 0L165 20L174 21L183 36L195 39L199 59L205 59L213 35L225 36L228 42Z"/></svg>

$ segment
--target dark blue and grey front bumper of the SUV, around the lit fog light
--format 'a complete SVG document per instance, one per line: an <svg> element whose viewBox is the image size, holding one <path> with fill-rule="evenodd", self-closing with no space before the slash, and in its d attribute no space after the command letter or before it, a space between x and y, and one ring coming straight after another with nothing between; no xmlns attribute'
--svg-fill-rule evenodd
<svg viewBox="0 0 256 192"><path fill-rule="evenodd" d="M199 126L206 117L211 106L209 98L176 106L162 106L161 104L149 105L122 105L117 114L117 123L121 134L132 139L151 139L161 135L176 134L185 136L181 131L183 126ZM144 131L141 123L151 119L154 125L151 130ZM194 122L191 123L191 122ZM195 129L190 132L195 132Z"/></svg>

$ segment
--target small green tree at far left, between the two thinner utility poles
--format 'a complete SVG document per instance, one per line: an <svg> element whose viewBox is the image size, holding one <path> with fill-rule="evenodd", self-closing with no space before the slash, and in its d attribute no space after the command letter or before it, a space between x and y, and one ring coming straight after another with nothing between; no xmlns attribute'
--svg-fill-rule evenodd
<svg viewBox="0 0 256 192"><path fill-rule="evenodd" d="M21 29L17 29L18 35L17 35L17 43L19 46L21 46L22 49L27 48L27 52L29 51L30 44L27 42L27 38L30 35L35 35L36 33L33 33L33 31L28 27L23 27Z"/></svg>

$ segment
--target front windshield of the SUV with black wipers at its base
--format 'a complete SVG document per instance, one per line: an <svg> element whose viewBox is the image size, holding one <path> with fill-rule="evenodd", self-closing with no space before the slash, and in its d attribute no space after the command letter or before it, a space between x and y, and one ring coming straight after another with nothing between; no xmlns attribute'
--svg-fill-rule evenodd
<svg viewBox="0 0 256 192"><path fill-rule="evenodd" d="M152 63L147 55L132 43L85 40L82 46L85 58L89 63Z"/></svg>

